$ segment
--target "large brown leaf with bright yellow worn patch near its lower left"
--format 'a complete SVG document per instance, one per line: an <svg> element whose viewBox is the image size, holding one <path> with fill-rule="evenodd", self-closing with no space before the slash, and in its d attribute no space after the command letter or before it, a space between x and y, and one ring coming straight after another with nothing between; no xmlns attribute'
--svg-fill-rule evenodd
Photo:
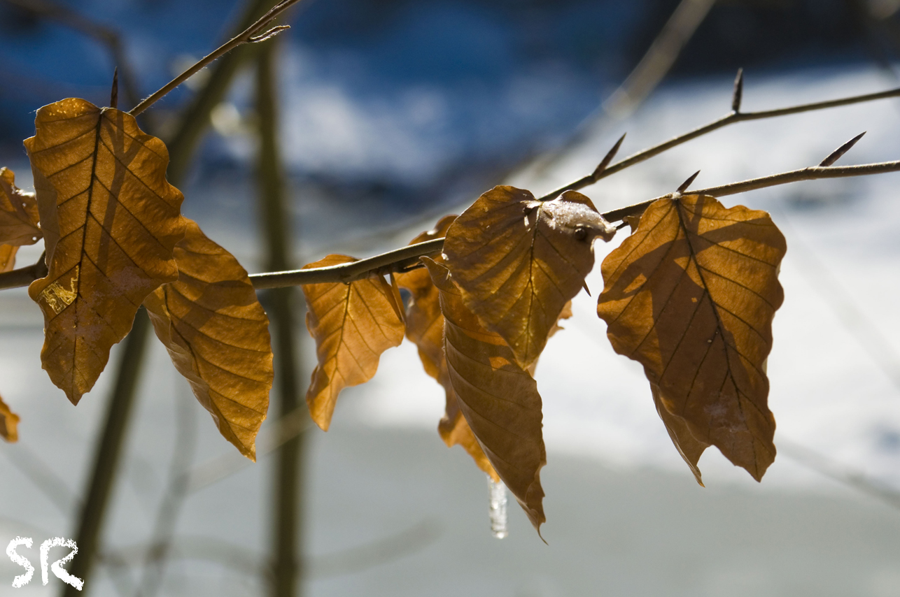
<svg viewBox="0 0 900 597"><path fill-rule="evenodd" d="M184 197L166 182L166 146L127 112L70 98L34 123L24 143L49 272L29 294L44 313L43 367L77 404L144 298L177 279Z"/></svg>

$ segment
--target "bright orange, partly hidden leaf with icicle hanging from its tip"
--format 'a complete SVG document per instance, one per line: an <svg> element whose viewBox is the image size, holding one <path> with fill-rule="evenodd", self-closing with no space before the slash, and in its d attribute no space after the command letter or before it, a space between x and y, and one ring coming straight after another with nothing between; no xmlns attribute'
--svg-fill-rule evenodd
<svg viewBox="0 0 900 597"><path fill-rule="evenodd" d="M446 235L446 230L453 223L456 216L446 216L437 222L433 230L423 232L410 242L410 245L424 243L433 238ZM406 337L419 347L419 359L425 372L437 379L444 388L446 406L444 416L437 424L437 432L445 441L448 448L455 445L463 446L464 450L474 459L478 468L499 481L497 471L491 466L491 461L484 455L482 447L475 440L469 423L466 422L463 413L456 402L456 394L450 384L450 374L447 372L447 362L444 356L444 315L437 288L431 281L431 275L425 268L410 270L394 274L397 285L410 291L410 307L406 313Z"/></svg>

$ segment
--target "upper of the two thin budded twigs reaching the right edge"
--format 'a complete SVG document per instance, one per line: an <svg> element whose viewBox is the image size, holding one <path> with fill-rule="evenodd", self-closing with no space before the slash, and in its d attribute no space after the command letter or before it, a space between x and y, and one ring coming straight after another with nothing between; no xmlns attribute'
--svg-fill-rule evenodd
<svg viewBox="0 0 900 597"><path fill-rule="evenodd" d="M790 106L788 108L779 108L777 110L755 112L731 111L728 114L725 114L725 116L723 116L722 118L713 120L712 122L705 124L698 129L691 130L687 133L684 133L683 135L671 138L664 143L654 145L653 147L648 147L642 151L637 152L636 154L626 157L625 159L619 160L616 164L608 166L602 173L596 176L596 178L593 174L588 174L587 176L584 176L573 183L566 184L565 186L556 189L554 192L547 193L544 197L541 197L541 200L551 200L554 199L554 197L559 197L559 195L563 192L578 191L579 189L583 189L586 186L590 186L593 183L599 182L599 180L606 178L607 176L611 176L612 174L621 172L633 165L640 164L641 162L644 162L645 160L648 160L653 156L659 156L663 152L670 150L672 147L678 147L682 143L687 143L688 141L707 135L714 130L722 129L723 127L734 124L735 122L745 122L747 120L763 120L767 118L775 118L777 116L799 114L806 111L838 108L840 106L848 106L854 103L874 102L876 100L884 100L891 97L900 97L900 87L888 91L878 92L877 94L853 95L851 97L845 97L840 100L804 103L797 106Z"/></svg>

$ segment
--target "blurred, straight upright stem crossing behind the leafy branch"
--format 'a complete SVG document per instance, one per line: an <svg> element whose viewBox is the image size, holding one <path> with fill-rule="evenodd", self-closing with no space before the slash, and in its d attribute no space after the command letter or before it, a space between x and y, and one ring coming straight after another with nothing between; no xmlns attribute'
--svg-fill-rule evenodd
<svg viewBox="0 0 900 597"><path fill-rule="evenodd" d="M257 115L259 118L259 190L263 235L268 244L266 265L289 267L290 210L284 200L284 178L278 148L277 85L275 85L275 47L270 43L257 58ZM275 339L275 375L278 411L281 416L293 413L300 405L297 379L296 341L293 308L298 295L293 289L272 290L269 295L269 317ZM300 487L304 434L300 433L278 450L275 465L273 508L273 597L299 594L302 558L298 553L302 536L302 489Z"/></svg>

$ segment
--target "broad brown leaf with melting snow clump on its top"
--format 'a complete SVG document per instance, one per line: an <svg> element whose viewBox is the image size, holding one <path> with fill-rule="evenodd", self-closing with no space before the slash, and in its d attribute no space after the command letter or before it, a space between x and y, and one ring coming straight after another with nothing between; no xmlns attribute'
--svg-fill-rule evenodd
<svg viewBox="0 0 900 597"><path fill-rule="evenodd" d="M594 239L615 234L579 192L542 202L498 186L456 218L444 254L465 306L527 369L594 266Z"/></svg>

